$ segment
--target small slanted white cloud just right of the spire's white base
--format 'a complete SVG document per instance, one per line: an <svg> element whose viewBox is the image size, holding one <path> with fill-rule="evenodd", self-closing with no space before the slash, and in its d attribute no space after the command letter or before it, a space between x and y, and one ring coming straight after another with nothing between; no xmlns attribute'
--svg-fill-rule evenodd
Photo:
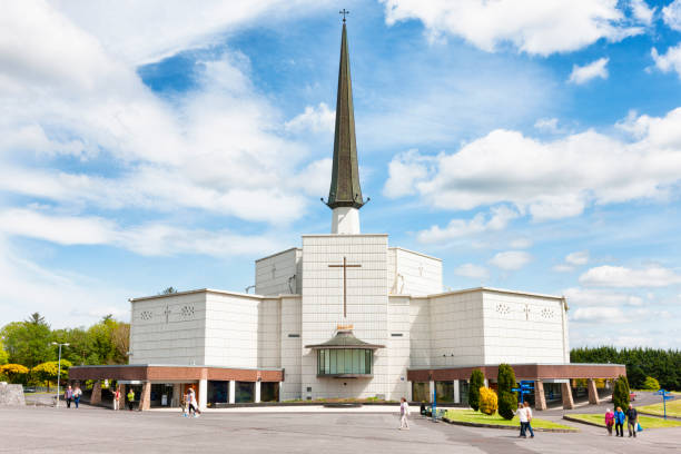
<svg viewBox="0 0 681 454"><path fill-rule="evenodd" d="M505 228L520 214L507 206L493 207L490 215L478 213L471 220L452 219L445 228L432 226L418 233L418 241L424 244L443 243L454 238L478 235L485 231L496 231Z"/></svg>

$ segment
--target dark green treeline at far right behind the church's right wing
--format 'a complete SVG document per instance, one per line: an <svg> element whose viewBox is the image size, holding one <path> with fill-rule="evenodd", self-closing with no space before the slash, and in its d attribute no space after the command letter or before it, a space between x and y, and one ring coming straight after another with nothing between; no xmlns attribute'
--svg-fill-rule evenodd
<svg viewBox="0 0 681 454"><path fill-rule="evenodd" d="M629 385L643 387L653 377L668 391L681 391L681 351L655 348L584 347L570 352L572 363L616 363L626 365Z"/></svg>

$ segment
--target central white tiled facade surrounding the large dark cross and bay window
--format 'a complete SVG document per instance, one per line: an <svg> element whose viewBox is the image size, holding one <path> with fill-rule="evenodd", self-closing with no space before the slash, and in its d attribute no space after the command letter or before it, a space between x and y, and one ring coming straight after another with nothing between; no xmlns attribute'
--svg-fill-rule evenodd
<svg viewBox="0 0 681 454"><path fill-rule="evenodd" d="M343 318L343 268L330 264L359 264L347 270L347 320ZM316 353L305 345L320 344L336 333L338 324L354 325L359 339L387 342L387 235L303 236L302 394L315 397L387 396L388 356L385 348L374 355L373 378L317 378ZM308 393L307 388L312 392Z"/></svg>

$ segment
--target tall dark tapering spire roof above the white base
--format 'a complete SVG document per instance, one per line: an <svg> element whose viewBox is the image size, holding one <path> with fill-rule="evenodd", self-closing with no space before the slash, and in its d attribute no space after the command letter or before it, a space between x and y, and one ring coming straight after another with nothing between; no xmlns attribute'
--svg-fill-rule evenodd
<svg viewBox="0 0 681 454"><path fill-rule="evenodd" d="M336 134L334 137L334 167L328 190L329 208L362 208L365 204L359 187L357 142L355 140L355 114L353 110L353 87L349 75L347 32L343 23L340 40L340 68L338 70L338 95L336 101ZM368 201L368 200L367 200Z"/></svg>

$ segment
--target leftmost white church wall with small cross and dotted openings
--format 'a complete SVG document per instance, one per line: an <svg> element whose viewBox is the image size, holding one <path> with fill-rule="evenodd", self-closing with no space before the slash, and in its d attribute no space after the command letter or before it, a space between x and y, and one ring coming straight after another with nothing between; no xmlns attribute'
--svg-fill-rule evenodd
<svg viewBox="0 0 681 454"><path fill-rule="evenodd" d="M206 294L131 302L130 364L205 364Z"/></svg>

